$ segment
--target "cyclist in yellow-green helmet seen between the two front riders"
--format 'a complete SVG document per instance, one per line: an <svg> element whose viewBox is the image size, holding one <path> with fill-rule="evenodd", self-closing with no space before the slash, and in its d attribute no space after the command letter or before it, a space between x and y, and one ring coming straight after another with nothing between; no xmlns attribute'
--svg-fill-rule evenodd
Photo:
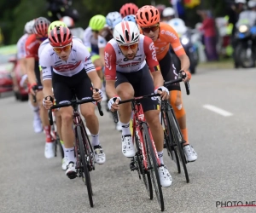
<svg viewBox="0 0 256 213"><path fill-rule="evenodd" d="M104 95L102 101L107 100L102 72L102 67L104 67L104 48L107 42L99 32L105 25L106 17L102 14L96 14L90 19L89 26L84 31L84 45L90 51L91 61L96 67L99 77L102 79L102 91Z"/></svg>

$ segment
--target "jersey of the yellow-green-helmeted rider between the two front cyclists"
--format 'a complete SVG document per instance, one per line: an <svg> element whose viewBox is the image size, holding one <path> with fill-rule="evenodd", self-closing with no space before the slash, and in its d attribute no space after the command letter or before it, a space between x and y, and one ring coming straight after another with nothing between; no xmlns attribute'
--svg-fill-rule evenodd
<svg viewBox="0 0 256 213"><path fill-rule="evenodd" d="M97 38L93 36L92 30L87 27L84 31L84 45L93 54L99 54L99 49L105 48L107 41L104 37L98 35Z"/></svg>

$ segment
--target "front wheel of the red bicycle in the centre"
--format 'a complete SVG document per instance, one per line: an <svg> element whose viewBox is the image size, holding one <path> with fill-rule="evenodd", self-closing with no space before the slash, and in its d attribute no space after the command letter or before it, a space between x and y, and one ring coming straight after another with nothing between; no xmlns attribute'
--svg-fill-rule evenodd
<svg viewBox="0 0 256 213"><path fill-rule="evenodd" d="M145 151L147 153L148 157L148 168L150 172L151 181L153 182L154 186L154 193L156 195L156 199L158 201L158 204L160 206L160 210L165 210L165 203L164 203L164 197L162 192L162 187L160 185L160 177L158 174L158 163L154 155L154 147L152 144L152 141L150 139L150 135L148 132L148 125L146 123L142 124L143 126L143 140L145 142Z"/></svg>

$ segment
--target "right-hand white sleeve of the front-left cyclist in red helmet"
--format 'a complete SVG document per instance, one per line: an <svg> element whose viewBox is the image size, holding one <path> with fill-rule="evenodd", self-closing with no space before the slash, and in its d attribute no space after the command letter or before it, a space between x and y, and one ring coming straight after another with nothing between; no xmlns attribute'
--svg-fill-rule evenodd
<svg viewBox="0 0 256 213"><path fill-rule="evenodd" d="M92 72L95 71L95 66L93 65L92 61L90 60L90 53L88 49L83 44L79 43L79 48L77 49L77 59L81 60L82 63L84 63L84 69L85 71Z"/></svg>

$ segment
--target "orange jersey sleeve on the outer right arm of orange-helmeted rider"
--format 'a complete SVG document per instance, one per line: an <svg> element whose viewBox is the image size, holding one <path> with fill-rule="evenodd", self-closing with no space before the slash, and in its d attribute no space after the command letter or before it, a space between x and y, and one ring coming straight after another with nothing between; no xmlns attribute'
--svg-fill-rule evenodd
<svg viewBox="0 0 256 213"><path fill-rule="evenodd" d="M173 51L177 56L185 55L186 52L183 49L183 45L180 43L179 37L177 35L177 32L172 28L172 26L169 26L166 24L166 39L169 41L169 43L172 46Z"/></svg>

